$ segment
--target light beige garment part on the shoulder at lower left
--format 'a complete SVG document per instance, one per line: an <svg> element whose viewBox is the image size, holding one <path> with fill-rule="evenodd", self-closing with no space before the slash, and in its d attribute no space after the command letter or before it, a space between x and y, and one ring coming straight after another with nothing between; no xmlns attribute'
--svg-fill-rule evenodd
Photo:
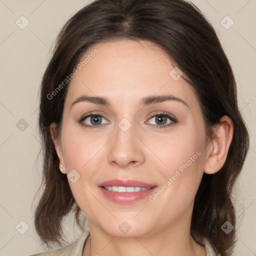
<svg viewBox="0 0 256 256"><path fill-rule="evenodd" d="M47 251L47 252L45 251L41 253L32 254L29 256L49 256L49 253L50 253L50 256L67 256L67 255L82 256L83 246L88 236L89 236L89 230L86 230L84 233L82 233L78 237L78 239L76 239L75 241L73 241L72 243L64 247L61 247L59 249L52 250L52 251Z"/></svg>

